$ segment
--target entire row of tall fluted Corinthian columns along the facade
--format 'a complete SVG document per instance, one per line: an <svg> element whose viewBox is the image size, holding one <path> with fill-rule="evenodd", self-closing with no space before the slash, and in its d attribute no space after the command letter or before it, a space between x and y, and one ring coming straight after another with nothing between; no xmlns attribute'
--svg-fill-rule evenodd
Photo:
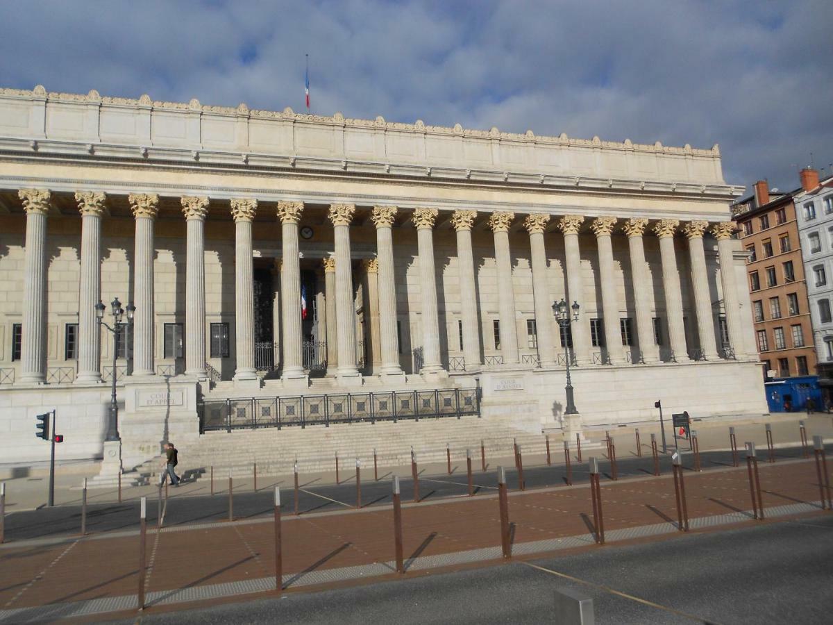
<svg viewBox="0 0 833 625"><path fill-rule="evenodd" d="M19 383L43 383L46 375L46 238L47 213L51 193L42 189L19 191L26 211L26 258L24 269L24 296L22 318L22 354ZM79 290L78 325L78 373L77 382L95 382L101 379L100 333L93 306L101 295L101 222L104 213L105 194L76 193L78 208L82 214L81 281ZM133 329L133 373L137 378L152 376L155 372L153 339L153 226L157 218L159 198L155 193L132 193L129 203L135 218L135 269L133 298L136 306ZM187 283L186 283L186 373L206 376L206 308L205 308L205 219L208 214L208 198L186 196L181 198L182 213L187 221ZM237 369L235 380L256 380L254 362L254 297L252 287L252 222L257 214L257 199L232 198L231 212L235 223L235 340ZM282 263L280 267L280 300L282 314L282 361L285 379L304 378L302 359L301 315L296 307L287 303L300 301L301 273L299 268L298 224L301 221L302 202L280 202L277 218L282 224ZM394 277L394 252L392 227L399 208L375 206L371 221L377 235L377 298L378 333L381 373L383 376L401 376L399 345L397 338L397 298ZM352 203L333 203L328 212L334 231L335 253L323 259L325 283L325 308L327 317L326 338L328 346L328 373L344 381L358 378L356 325L353 307L352 264L350 226L356 213ZM422 372L442 373L440 353L439 309L434 267L434 228L439 211L436 208L415 208L412 223L416 227L421 301ZM461 297L462 351L466 369L482 366L480 324L476 303L475 263L471 243L471 230L477 213L457 210L451 215L451 225L456 231L456 253L459 268ZM545 233L551 218L557 218L556 228L564 237L566 260L566 298L586 310L585 284L581 277L581 250L579 233L589 226L596 235L599 255L599 279L601 287L601 318L606 343L607 362L626 363L620 330L621 306L617 300L615 264L611 237L616 228L626 234L630 252L634 308L636 313L636 341L641 362L656 363L659 351L654 341L654 326L650 301L651 285L645 258L643 237L648 228L646 218L629 218L620 221L613 217L588 220L581 215L551 216L544 213L529 214L523 226L529 233L532 289L536 319L536 340L541 367L556 365L556 342L553 337L553 313L551 294L547 284L547 256ZM500 344L505 366L518 366L518 338L516 333L516 306L512 288L511 248L509 231L515 222L515 214L499 211L490 213L487 224L491 228L495 246L497 293L499 297ZM691 283L694 292L694 309L698 329L701 358L720 358L716 340L711 297L706 269L703 237L707 229L718 240L722 291L726 308L726 323L730 343L741 351L742 328L738 313L739 298L733 271L731 243L735 224L732 222L707 223L691 221L682 225L676 219L657 220L651 230L659 238L661 250L662 288L666 303L666 318L672 358L677 363L689 359L683 323L681 283L676 264L674 236L681 230L688 241L691 265ZM725 268L730 268L726 271ZM572 323L571 336L576 363L592 362L591 329L584 316L579 323ZM335 346L335 348L332 348ZM723 354L725 356L725 354Z"/></svg>

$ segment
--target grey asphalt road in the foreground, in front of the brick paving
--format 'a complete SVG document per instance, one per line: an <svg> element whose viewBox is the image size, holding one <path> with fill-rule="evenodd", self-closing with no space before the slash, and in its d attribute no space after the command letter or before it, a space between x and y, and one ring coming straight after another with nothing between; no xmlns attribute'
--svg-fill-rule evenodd
<svg viewBox="0 0 833 625"><path fill-rule="evenodd" d="M816 515L124 622L523 625L552 622L554 592L572 588L593 599L601 624L826 623L831 553L833 515Z"/></svg>

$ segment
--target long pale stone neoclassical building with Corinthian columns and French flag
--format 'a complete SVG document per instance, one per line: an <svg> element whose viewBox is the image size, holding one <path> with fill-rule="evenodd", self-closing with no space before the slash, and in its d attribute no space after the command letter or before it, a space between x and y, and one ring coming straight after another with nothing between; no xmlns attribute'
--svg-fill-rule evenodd
<svg viewBox="0 0 833 625"><path fill-rule="evenodd" d="M51 408L101 454L112 376L128 465L227 399L479 388L562 428L565 344L578 426L765 413L741 190L716 146L0 89L3 458Z"/></svg>

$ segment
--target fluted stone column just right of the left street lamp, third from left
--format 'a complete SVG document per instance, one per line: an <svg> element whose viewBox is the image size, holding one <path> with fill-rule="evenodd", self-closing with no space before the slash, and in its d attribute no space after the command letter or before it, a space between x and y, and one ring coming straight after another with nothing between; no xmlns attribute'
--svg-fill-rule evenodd
<svg viewBox="0 0 833 625"><path fill-rule="evenodd" d="M159 211L156 193L131 193L128 197L136 218L136 240L133 246L133 377L156 374L153 365L153 223ZM113 373L115 375L115 373Z"/></svg>

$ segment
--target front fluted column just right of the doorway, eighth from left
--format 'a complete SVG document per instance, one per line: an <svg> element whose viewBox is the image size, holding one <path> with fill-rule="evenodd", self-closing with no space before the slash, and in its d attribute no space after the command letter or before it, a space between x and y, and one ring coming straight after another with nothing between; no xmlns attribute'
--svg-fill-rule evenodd
<svg viewBox="0 0 833 625"><path fill-rule="evenodd" d="M402 375L397 337L397 280L393 268L393 222L397 207L375 206L371 219L376 225L377 292L379 306L379 345L382 375Z"/></svg>

